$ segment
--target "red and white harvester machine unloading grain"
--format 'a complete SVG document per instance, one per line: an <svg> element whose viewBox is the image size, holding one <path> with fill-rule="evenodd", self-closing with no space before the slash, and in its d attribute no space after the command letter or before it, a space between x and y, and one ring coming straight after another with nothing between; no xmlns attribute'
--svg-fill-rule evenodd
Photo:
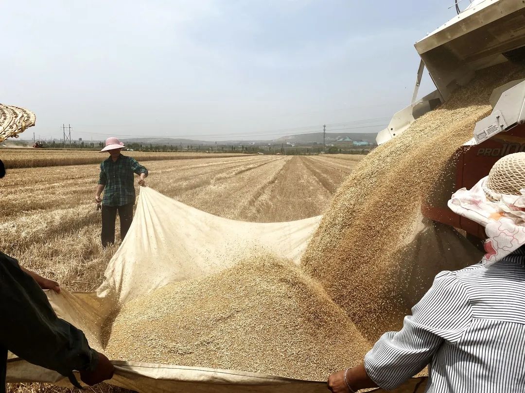
<svg viewBox="0 0 525 393"><path fill-rule="evenodd" d="M525 1L474 0L458 15L415 43L421 57L412 103L397 112L376 138L377 144L402 134L418 117L445 102L459 86L468 84L476 71L511 61L525 64ZM436 90L416 101L424 69ZM423 215L461 228L468 235L484 238L484 229L452 213L449 196L461 187L472 187L486 176L502 156L525 151L525 80L499 86L490 97L492 113L481 119L473 137L451 161L447 184L440 184L433 200L423 206Z"/></svg>

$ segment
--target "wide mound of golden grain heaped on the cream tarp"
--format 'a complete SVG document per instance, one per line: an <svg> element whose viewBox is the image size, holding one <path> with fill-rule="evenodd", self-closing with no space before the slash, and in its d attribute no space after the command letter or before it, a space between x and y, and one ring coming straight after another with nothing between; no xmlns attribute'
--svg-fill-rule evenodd
<svg viewBox="0 0 525 393"><path fill-rule="evenodd" d="M319 283L270 256L133 300L105 334L112 359L318 380L370 347Z"/></svg>

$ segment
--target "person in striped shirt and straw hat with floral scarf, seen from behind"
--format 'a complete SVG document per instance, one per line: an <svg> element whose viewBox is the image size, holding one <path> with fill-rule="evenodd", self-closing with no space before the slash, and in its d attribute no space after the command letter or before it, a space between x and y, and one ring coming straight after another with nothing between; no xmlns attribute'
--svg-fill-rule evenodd
<svg viewBox="0 0 525 393"><path fill-rule="evenodd" d="M394 389L428 365L426 392L525 391L525 153L498 160L451 210L485 226L479 264L438 274L358 366L330 375L334 393Z"/></svg>

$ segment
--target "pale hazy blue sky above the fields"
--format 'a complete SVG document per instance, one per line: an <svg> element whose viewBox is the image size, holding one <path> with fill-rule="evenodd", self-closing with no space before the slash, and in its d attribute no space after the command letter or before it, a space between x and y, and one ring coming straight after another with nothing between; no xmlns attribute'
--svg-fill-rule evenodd
<svg viewBox="0 0 525 393"><path fill-rule="evenodd" d="M377 132L451 4L0 0L0 102L35 112L23 139ZM434 89L425 72L419 96Z"/></svg>

